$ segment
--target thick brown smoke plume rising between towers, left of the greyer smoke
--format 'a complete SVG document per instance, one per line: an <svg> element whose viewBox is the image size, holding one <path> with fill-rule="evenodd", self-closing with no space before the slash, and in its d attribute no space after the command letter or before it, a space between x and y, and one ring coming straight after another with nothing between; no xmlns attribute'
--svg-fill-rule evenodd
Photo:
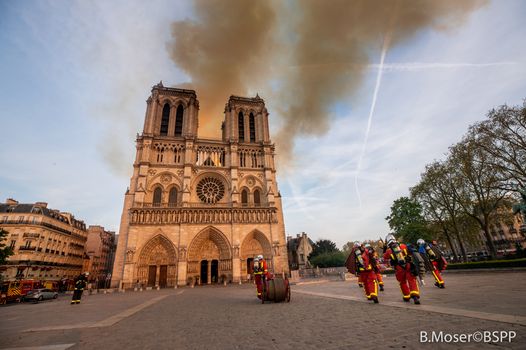
<svg viewBox="0 0 526 350"><path fill-rule="evenodd" d="M245 95L267 72L276 16L267 1L196 0L194 7L196 20L173 23L169 51L197 91L200 132L213 135L228 97Z"/></svg>

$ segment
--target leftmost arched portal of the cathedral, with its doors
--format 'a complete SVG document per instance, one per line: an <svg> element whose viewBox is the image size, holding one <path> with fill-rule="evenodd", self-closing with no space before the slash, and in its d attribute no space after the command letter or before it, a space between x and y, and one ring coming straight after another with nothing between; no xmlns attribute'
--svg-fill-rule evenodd
<svg viewBox="0 0 526 350"><path fill-rule="evenodd" d="M166 237L159 234L146 242L137 265L137 280L141 286L175 286L177 254L172 242Z"/></svg>

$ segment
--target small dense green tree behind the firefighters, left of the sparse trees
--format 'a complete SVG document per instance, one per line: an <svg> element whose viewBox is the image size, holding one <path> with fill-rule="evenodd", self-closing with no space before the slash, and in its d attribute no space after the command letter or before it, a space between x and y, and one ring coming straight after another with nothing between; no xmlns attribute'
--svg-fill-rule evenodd
<svg viewBox="0 0 526 350"><path fill-rule="evenodd" d="M396 238L416 243L419 238L431 240L431 231L422 215L422 206L409 197L393 202L391 214L385 218Z"/></svg>

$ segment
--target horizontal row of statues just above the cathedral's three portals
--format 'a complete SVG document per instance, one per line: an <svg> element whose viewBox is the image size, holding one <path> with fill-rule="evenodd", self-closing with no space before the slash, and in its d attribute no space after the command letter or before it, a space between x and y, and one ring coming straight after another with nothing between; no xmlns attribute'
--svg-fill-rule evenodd
<svg viewBox="0 0 526 350"><path fill-rule="evenodd" d="M137 208L130 209L130 224L277 223L277 209L268 208Z"/></svg>

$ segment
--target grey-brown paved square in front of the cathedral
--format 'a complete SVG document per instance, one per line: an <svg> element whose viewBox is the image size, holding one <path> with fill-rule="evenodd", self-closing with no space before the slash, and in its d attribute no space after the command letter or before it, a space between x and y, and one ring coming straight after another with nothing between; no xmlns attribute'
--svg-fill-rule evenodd
<svg viewBox="0 0 526 350"><path fill-rule="evenodd" d="M64 296L0 308L0 348L524 349L525 277L448 273L444 290L427 281L420 307L401 301L393 277L378 305L364 302L355 281L295 285L288 304L261 305L250 285L98 294L80 305ZM517 337L421 344L420 332L432 330L515 331Z"/></svg>

